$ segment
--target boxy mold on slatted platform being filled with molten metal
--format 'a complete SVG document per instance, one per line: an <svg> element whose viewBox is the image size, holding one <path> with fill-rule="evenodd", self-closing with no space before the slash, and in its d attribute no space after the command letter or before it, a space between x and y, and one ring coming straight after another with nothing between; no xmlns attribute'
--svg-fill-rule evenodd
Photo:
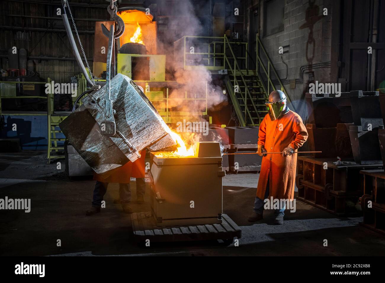
<svg viewBox="0 0 385 283"><path fill-rule="evenodd" d="M199 142L195 156L151 152L151 209L157 226L222 223L221 151Z"/></svg>

